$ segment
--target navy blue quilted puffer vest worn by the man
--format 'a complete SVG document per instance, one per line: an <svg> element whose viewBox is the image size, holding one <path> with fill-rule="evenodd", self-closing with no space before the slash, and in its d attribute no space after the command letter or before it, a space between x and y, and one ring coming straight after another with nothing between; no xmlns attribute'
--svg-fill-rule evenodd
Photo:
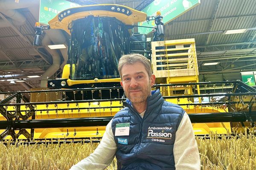
<svg viewBox="0 0 256 170"><path fill-rule="evenodd" d="M119 170L175 170L175 133L185 111L164 101L159 90L151 94L143 119L131 107L129 100L113 118L111 126L117 144ZM120 125L130 127L129 135L116 136L116 127L120 128ZM117 135L122 134L119 131Z"/></svg>

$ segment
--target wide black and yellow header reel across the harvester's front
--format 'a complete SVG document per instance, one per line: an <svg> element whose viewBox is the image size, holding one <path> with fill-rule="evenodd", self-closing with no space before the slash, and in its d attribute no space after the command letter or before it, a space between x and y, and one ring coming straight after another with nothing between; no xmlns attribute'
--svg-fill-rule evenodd
<svg viewBox="0 0 256 170"><path fill-rule="evenodd" d="M192 91L196 93L196 85L202 87L201 93L203 91L205 93L200 95L183 93L184 88L185 90L192 88ZM160 88L163 94L163 90L168 87L175 89L174 94L163 96L163 98L182 106L189 113L192 123L236 122L233 123L233 127L236 129L255 126L256 92L254 88L241 81L165 84L154 85L153 89ZM183 87L182 91L179 90L180 87ZM93 127L95 128L93 133L99 134L98 127L107 125L114 114L123 108L122 102L125 101L123 94L120 93L118 97L112 97L113 91L120 92L121 90L122 87L111 87L2 93L9 96L0 102L2 115L0 129L5 129L0 135L0 140L5 139L8 135L12 136L14 140L20 139L21 135L23 135L23 139L38 139L40 135L35 135L37 128L72 127L75 129L74 133L79 134L81 132L76 127ZM48 102L29 102L27 99L32 95L39 97L62 94L65 96L67 92L73 94L90 92L93 96L94 93L100 95L103 91L109 93L109 99L93 98L68 101L64 97L61 101ZM206 101L207 98L208 101ZM196 102L198 99L201 99L201 102ZM217 113L218 111L226 112Z"/></svg>

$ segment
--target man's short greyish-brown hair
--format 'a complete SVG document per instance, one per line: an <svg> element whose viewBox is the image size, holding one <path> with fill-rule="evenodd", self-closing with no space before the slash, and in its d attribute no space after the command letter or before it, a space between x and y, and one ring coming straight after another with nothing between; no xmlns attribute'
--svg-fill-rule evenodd
<svg viewBox="0 0 256 170"><path fill-rule="evenodd" d="M122 57L119 59L119 62L118 62L118 71L119 71L121 80L122 80L122 67L124 65L127 65L127 64L132 65L137 62L140 62L145 66L145 69L148 73L148 77L149 78L151 77L152 68L151 68L151 62L149 61L149 59L147 59L141 54L126 54L126 55L122 55Z"/></svg>

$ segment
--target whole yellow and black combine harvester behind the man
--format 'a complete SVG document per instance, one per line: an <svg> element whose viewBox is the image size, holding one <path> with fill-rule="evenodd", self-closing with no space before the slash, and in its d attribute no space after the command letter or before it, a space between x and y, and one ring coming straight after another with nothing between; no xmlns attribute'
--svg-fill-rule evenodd
<svg viewBox="0 0 256 170"><path fill-rule="evenodd" d="M134 23L155 20L156 36L163 37L161 18L100 4L69 8L49 26L36 25L35 45L44 29L70 34L68 62L62 79L48 80L51 90L1 93L8 97L0 101L0 141L99 142L105 126L123 108L117 64L130 52L151 60L157 83L153 89L185 109L196 135L253 127L256 89L239 80L198 82L194 39L149 42L145 34L133 33Z"/></svg>

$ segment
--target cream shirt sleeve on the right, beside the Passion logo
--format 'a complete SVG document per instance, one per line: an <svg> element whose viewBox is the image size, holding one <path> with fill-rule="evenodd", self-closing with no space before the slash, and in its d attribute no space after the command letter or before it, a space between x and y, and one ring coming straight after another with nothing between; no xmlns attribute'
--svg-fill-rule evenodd
<svg viewBox="0 0 256 170"><path fill-rule="evenodd" d="M195 134L187 113L176 132L173 148L176 170L200 170L200 156Z"/></svg>

